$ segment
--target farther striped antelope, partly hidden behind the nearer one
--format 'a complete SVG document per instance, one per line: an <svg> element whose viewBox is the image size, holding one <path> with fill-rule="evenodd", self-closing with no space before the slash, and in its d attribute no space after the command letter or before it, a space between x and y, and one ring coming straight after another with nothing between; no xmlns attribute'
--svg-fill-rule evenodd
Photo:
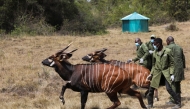
<svg viewBox="0 0 190 109"><path fill-rule="evenodd" d="M147 76L150 74L149 69L135 64L135 63L126 63L117 60L105 60L104 58L107 56L104 52L107 49L102 49L99 51L95 51L93 53L89 53L88 55L84 56L82 59L87 62L91 63L107 63L119 66L120 68L124 69L129 73L130 77L132 78L133 84L139 86L141 88L148 89L150 86L150 81L147 80ZM145 96L148 94L148 90L145 92ZM157 90L155 90L155 96L158 96Z"/></svg>

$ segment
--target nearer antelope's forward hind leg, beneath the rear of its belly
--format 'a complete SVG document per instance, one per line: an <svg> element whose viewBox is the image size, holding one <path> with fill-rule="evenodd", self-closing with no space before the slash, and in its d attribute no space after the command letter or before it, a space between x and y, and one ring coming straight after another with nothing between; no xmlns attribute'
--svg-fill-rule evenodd
<svg viewBox="0 0 190 109"><path fill-rule="evenodd" d="M109 99L113 102L113 105L107 109L115 109L121 104L121 102L117 97L117 93L106 93L106 94L108 95Z"/></svg>

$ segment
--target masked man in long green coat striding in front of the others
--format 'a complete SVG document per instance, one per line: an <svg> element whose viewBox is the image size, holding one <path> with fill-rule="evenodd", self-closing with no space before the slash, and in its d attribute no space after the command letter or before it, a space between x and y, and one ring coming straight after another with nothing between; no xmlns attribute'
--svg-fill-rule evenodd
<svg viewBox="0 0 190 109"><path fill-rule="evenodd" d="M172 56L171 50L169 48L163 47L161 38L156 38L154 40L154 48L155 52L153 53L152 60L153 67L151 74L147 77L148 80L151 80L149 93L147 96L147 108L150 109L153 107L154 90L160 86L161 82L164 82L166 85L166 89L168 93L174 98L175 104L180 105L176 93L171 88L171 83L174 76L174 58Z"/></svg>

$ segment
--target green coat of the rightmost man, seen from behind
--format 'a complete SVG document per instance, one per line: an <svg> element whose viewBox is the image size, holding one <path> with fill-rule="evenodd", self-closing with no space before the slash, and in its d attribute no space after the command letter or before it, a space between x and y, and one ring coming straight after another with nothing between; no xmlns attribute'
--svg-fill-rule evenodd
<svg viewBox="0 0 190 109"><path fill-rule="evenodd" d="M182 81L185 79L185 55L183 54L183 49L174 42L171 42L167 48L171 49L172 55L174 57L174 81Z"/></svg>

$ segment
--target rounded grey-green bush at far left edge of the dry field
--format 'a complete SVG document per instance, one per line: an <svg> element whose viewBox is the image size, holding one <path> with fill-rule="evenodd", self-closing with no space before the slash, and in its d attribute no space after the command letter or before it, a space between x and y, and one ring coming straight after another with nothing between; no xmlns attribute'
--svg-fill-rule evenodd
<svg viewBox="0 0 190 109"><path fill-rule="evenodd" d="M15 29L11 35L52 35L54 32L55 28L48 25L44 19L30 18L26 15L16 19Z"/></svg>

